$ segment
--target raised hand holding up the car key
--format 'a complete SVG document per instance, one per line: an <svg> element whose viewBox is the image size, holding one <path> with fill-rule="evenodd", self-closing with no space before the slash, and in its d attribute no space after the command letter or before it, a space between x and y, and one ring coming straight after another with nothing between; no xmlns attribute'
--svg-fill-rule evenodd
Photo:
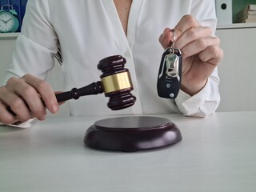
<svg viewBox="0 0 256 192"><path fill-rule="evenodd" d="M212 35L210 27L200 26L191 16L184 16L174 27L174 48L182 51L182 90L197 94L206 85L218 62L223 57L220 40ZM164 49L170 47L174 33L166 28L159 37Z"/></svg>

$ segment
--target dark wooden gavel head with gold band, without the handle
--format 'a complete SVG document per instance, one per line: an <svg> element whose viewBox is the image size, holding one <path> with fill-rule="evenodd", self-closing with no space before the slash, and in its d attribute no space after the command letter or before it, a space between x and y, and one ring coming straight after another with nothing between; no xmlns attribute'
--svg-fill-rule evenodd
<svg viewBox="0 0 256 192"><path fill-rule="evenodd" d="M133 106L136 98L130 94L134 90L129 70L124 68L126 58L114 55L103 58L98 63L98 70L102 71L101 83L106 97L110 98L107 106L111 110L122 110Z"/></svg>

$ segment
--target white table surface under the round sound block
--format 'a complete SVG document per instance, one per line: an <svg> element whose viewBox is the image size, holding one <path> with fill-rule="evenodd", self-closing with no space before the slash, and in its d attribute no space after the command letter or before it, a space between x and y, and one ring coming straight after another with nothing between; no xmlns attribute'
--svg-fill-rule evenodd
<svg viewBox="0 0 256 192"><path fill-rule="evenodd" d="M134 153L92 150L86 129L106 117L51 117L0 126L0 191L256 191L256 112L169 118L182 142Z"/></svg>

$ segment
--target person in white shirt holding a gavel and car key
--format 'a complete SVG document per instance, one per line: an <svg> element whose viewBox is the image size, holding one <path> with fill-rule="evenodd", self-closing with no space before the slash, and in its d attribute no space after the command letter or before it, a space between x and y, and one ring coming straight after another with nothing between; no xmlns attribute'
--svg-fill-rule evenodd
<svg viewBox="0 0 256 192"><path fill-rule="evenodd" d="M217 66L223 51L214 35L214 0L28 0L22 31L0 88L0 121L44 120L59 110L45 81L60 47L66 90L99 80L98 61L126 58L137 101L125 110L106 107L101 94L68 102L71 115L182 113L206 117L220 102ZM163 51L176 31L182 52L182 88L159 98L156 82ZM45 102L46 107L43 105ZM14 114L6 107L10 106Z"/></svg>

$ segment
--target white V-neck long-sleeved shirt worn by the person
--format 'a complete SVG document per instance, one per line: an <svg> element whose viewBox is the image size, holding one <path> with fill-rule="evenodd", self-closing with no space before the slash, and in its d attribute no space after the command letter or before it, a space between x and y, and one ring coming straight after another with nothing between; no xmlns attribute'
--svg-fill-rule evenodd
<svg viewBox="0 0 256 192"><path fill-rule="evenodd" d="M11 76L34 74L45 79L54 66L58 43L62 49L62 70L66 90L97 82L102 74L98 61L110 55L126 58L134 85L134 106L112 111L104 94L70 101L72 115L166 114L206 116L220 101L217 69L206 86L193 97L180 90L175 100L159 98L158 69L163 48L159 35L174 28L185 14L192 14L202 26L216 27L214 0L136 0L130 8L127 36L112 0L29 0L22 32L17 38Z"/></svg>

